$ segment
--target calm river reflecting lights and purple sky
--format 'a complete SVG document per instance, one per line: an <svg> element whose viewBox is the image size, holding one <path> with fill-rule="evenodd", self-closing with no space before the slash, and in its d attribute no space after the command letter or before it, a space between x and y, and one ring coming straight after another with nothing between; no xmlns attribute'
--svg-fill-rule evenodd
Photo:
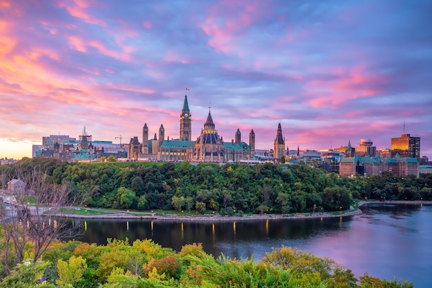
<svg viewBox="0 0 432 288"><path fill-rule="evenodd" d="M363 214L343 218L176 222L167 220L86 220L79 238L106 244L106 238L151 238L179 251L202 243L213 256L261 259L282 245L327 256L370 276L432 285L432 206L369 204ZM77 221L79 222L79 221Z"/></svg>

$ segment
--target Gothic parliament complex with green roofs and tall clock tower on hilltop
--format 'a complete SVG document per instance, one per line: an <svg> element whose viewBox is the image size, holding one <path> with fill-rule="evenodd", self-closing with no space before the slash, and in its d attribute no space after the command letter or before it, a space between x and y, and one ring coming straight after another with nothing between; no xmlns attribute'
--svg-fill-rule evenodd
<svg viewBox="0 0 432 288"><path fill-rule="evenodd" d="M179 138L165 138L164 125L159 127L159 137L155 133L148 138L147 123L142 131L142 142L137 136L130 138L128 146L129 161L193 161L193 162L228 162L249 161L255 157L255 133L249 133L249 143L242 141L239 129L230 142L224 142L217 134L210 110L201 134L192 140L192 114L189 110L188 96L184 95L183 109L180 114Z"/></svg>

